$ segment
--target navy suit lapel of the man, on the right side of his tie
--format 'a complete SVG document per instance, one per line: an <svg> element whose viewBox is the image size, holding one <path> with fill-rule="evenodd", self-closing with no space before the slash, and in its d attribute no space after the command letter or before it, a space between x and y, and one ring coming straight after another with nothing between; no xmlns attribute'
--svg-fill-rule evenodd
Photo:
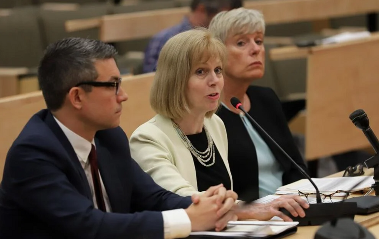
<svg viewBox="0 0 379 239"><path fill-rule="evenodd" d="M101 179L104 183L112 211L126 213L128 211L126 203L127 195L121 184L118 169L113 163L115 159L109 150L102 146L96 138L95 145Z"/></svg>

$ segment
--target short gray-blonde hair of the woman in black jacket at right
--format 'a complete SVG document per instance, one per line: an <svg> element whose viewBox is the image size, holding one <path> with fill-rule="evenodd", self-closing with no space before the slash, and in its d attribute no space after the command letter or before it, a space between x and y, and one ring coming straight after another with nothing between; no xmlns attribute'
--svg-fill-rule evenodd
<svg viewBox="0 0 379 239"><path fill-rule="evenodd" d="M222 42L238 34L261 31L264 34L265 23L260 11L243 7L218 13L211 21L209 30Z"/></svg>

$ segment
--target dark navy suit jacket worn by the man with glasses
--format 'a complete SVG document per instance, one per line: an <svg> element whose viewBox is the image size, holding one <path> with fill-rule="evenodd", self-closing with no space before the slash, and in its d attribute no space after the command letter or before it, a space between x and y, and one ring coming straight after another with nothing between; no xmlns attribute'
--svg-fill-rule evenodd
<svg viewBox="0 0 379 239"><path fill-rule="evenodd" d="M187 208L190 198L141 170L120 127L98 131L95 144L111 213L94 208L84 170L52 114L35 114L6 157L0 238L162 239L160 211Z"/></svg>

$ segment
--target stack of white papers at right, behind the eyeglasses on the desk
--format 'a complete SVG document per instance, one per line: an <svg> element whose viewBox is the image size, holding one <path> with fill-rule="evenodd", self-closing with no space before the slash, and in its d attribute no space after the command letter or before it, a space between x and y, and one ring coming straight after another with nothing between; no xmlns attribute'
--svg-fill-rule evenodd
<svg viewBox="0 0 379 239"><path fill-rule="evenodd" d="M337 190L345 190L350 192L361 191L366 188L370 188L374 183L372 176L359 176L359 177L338 177L338 178L322 178L313 179L316 183L318 190L322 193L334 193ZM354 188L353 185L360 182ZM284 185L278 188L278 191L293 191L300 190L302 192L315 192L315 187L308 179L301 179L295 183Z"/></svg>

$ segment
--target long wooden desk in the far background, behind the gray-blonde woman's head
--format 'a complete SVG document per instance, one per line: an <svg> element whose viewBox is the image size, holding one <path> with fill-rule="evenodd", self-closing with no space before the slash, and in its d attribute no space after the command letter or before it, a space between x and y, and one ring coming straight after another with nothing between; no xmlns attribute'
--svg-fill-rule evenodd
<svg viewBox="0 0 379 239"><path fill-rule="evenodd" d="M245 1L245 8L262 11L267 25L317 21L379 11L378 0L256 0ZM182 21L189 7L106 15L101 18L70 20L67 31L100 27L100 39L117 42L151 37Z"/></svg>

